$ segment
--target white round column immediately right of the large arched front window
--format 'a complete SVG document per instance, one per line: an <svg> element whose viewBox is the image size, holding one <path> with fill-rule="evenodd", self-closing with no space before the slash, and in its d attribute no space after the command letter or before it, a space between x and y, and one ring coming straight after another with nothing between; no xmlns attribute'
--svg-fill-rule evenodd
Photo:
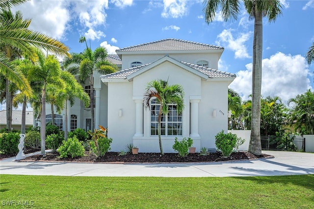
<svg viewBox="0 0 314 209"><path fill-rule="evenodd" d="M190 96L191 115L190 115L190 137L200 137L198 134L198 103L201 101L201 96Z"/></svg>

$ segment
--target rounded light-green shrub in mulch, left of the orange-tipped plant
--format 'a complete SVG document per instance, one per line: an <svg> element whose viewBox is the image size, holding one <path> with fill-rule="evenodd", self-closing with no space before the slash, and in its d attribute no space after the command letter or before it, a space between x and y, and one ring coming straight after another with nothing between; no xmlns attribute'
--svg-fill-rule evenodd
<svg viewBox="0 0 314 209"><path fill-rule="evenodd" d="M82 141L78 141L76 136L69 138L67 141L63 141L62 145L57 149L57 151L60 158L82 157L85 153Z"/></svg>

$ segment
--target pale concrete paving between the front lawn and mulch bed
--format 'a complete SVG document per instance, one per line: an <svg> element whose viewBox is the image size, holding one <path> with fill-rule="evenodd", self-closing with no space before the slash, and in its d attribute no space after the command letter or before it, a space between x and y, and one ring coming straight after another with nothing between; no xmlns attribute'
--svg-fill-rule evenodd
<svg viewBox="0 0 314 209"><path fill-rule="evenodd" d="M314 153L263 151L271 159L217 163L49 163L0 161L0 174L53 176L234 177L314 174Z"/></svg>

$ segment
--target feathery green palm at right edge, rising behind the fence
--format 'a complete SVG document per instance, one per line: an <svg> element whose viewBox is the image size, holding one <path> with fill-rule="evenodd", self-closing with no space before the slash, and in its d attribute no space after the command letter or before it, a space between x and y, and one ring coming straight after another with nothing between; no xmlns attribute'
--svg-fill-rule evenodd
<svg viewBox="0 0 314 209"><path fill-rule="evenodd" d="M288 100L292 106L288 114L288 123L294 130L302 130L303 134L314 134L314 92L310 89Z"/></svg>

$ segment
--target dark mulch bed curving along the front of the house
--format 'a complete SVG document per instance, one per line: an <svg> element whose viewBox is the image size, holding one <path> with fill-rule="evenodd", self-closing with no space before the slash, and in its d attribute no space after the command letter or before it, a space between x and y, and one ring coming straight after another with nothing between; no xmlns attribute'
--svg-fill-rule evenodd
<svg viewBox="0 0 314 209"><path fill-rule="evenodd" d="M272 157L266 154L255 156L249 152L234 152L225 158L220 152L209 153L201 156L199 153L188 154L186 157L179 157L178 153L138 153L137 155L127 154L119 156L118 152L107 152L104 157L97 158L92 153L85 151L85 156L76 158L58 158L58 153L46 153L46 156L34 155L26 157L26 161L67 161L67 162L105 162L105 163L197 163L197 162L218 162L252 160L258 158Z"/></svg>

